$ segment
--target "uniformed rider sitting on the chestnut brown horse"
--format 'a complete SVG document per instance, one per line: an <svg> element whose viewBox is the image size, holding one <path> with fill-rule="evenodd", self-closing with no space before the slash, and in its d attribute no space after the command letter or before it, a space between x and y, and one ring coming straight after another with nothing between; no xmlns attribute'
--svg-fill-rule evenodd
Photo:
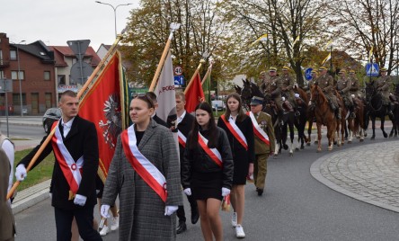
<svg viewBox="0 0 399 241"><path fill-rule="evenodd" d="M338 104L337 96L333 94L333 86L334 80L332 76L327 74L326 67L319 68L320 76L316 78L315 84L318 85L324 92L325 97L327 98L330 106L332 108L332 112L335 113L337 119L341 119L341 107Z"/></svg>

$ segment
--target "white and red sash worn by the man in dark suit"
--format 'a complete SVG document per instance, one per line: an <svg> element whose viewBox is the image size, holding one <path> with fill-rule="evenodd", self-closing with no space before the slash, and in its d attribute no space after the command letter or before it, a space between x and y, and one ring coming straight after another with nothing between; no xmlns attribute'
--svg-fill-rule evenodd
<svg viewBox="0 0 399 241"><path fill-rule="evenodd" d="M59 166L61 167L62 173L67 179L70 190L74 194L76 194L77 190L79 189L79 184L82 181L81 172L83 168L84 158L83 156L81 156L75 162L74 158L67 150L67 147L64 145L61 132L59 131L58 121L54 124L54 126L53 127L56 128L56 132L51 138L53 152L54 155L57 157L57 161Z"/></svg>

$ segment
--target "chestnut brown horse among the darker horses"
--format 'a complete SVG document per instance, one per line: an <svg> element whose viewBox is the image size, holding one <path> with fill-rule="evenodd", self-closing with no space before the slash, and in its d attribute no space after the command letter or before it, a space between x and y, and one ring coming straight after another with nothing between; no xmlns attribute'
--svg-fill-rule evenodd
<svg viewBox="0 0 399 241"><path fill-rule="evenodd" d="M317 125L318 147L322 151L322 125L327 126L328 150L332 150L337 123L339 122L330 108L327 98L318 85L313 85L310 94L310 103L315 103L315 118Z"/></svg>

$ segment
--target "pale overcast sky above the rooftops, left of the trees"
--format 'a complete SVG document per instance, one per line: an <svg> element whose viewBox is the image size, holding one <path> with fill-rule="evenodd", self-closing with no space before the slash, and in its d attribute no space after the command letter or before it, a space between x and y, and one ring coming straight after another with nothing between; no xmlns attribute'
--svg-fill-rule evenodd
<svg viewBox="0 0 399 241"><path fill-rule="evenodd" d="M102 3L131 4L117 8L117 31L125 28L129 11L139 7L139 0L108 0ZM91 40L95 51L102 43L115 40L114 11L110 5L94 0L0 0L0 32L10 42L67 46L67 40Z"/></svg>

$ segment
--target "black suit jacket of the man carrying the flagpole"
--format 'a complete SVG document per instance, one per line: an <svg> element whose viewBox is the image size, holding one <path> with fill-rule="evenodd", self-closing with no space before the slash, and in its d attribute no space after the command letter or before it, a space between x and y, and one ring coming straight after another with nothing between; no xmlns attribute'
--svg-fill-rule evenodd
<svg viewBox="0 0 399 241"><path fill-rule="evenodd" d="M27 167L31 158L36 154L46 138L47 136L41 140L39 146L34 147L27 156L23 157L18 165L23 164ZM79 116L76 116L72 123L72 127L67 134L67 138L63 139L64 145L67 147L67 150L74 160L77 160L80 156L84 156L82 181L79 185L77 194L83 195L87 198L84 206L93 206L97 203L95 195L95 176L97 174L99 163L99 149L95 126L93 122L86 121ZM39 165L40 162L52 152L53 147L51 142L52 141L49 141L49 144L44 148L32 168ZM54 162L54 170L50 186L50 192L52 193L51 205L64 210L75 210L81 208L74 204L74 200L68 201L69 190L70 188L67 179L62 173L61 167L56 160Z"/></svg>

